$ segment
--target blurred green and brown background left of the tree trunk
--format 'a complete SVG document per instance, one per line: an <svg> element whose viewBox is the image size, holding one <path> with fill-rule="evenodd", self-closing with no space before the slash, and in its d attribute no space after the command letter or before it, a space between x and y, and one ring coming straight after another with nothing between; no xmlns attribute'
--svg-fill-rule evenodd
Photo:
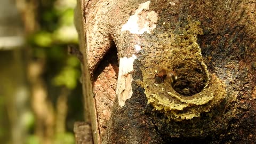
<svg viewBox="0 0 256 144"><path fill-rule="evenodd" d="M76 0L0 1L0 143L75 143L83 121Z"/></svg>

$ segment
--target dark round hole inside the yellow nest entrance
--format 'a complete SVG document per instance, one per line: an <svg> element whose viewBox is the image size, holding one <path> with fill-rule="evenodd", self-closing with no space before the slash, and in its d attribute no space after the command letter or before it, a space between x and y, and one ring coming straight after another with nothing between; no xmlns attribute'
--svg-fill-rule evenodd
<svg viewBox="0 0 256 144"><path fill-rule="evenodd" d="M179 94L190 97L201 92L209 81L206 67L201 62L185 60L173 67L178 75L177 81L172 84Z"/></svg>

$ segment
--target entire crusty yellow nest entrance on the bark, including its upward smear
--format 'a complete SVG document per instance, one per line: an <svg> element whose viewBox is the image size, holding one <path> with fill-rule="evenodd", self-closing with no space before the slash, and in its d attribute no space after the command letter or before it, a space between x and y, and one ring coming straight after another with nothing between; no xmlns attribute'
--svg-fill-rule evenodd
<svg viewBox="0 0 256 144"><path fill-rule="evenodd" d="M197 43L197 35L203 34L199 26L199 21L188 17L186 25L178 30L156 34L161 41L145 49L147 56L141 60L145 66L142 86L148 103L176 121L199 117L226 97L225 85L209 74L203 61ZM155 49L154 53L150 49ZM161 68L175 71L177 81L167 77L156 84L155 75Z"/></svg>

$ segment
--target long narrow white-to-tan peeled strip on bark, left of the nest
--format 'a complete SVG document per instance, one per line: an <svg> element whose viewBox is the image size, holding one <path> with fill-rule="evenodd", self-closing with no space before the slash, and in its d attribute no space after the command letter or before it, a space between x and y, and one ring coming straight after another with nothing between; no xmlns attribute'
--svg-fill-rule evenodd
<svg viewBox="0 0 256 144"><path fill-rule="evenodd" d="M123 107L125 101L132 97L132 74L133 61L137 57L133 54L130 58L120 58L119 61L119 72L116 87L116 94L118 98L119 106Z"/></svg>

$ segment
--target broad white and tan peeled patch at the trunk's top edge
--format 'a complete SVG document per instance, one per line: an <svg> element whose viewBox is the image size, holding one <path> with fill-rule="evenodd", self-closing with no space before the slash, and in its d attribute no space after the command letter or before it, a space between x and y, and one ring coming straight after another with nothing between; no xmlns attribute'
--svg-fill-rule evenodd
<svg viewBox="0 0 256 144"><path fill-rule="evenodd" d="M157 13L155 11L148 12L149 3L150 1L140 4L135 13L131 15L129 20L122 26L121 31L128 30L132 34L139 35L145 32L151 34L150 31L156 28Z"/></svg>

